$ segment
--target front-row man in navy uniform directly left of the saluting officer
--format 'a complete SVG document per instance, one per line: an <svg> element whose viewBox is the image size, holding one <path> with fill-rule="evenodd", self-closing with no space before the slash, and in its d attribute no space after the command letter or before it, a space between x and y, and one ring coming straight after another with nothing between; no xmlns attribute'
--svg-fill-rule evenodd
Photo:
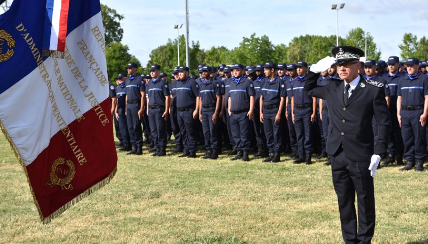
<svg viewBox="0 0 428 244"><path fill-rule="evenodd" d="M316 118L316 98L312 98L303 92L308 64L299 61L296 66L298 78L291 83L291 118L298 141L299 158L293 163L311 164L312 125Z"/></svg>

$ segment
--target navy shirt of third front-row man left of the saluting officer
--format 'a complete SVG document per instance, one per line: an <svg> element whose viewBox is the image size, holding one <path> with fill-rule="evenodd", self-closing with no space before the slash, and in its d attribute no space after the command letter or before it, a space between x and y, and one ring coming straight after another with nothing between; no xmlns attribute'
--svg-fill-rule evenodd
<svg viewBox="0 0 428 244"><path fill-rule="evenodd" d="M230 82L229 97L231 98L231 110L240 111L250 108L250 97L255 96L253 82L241 77Z"/></svg>

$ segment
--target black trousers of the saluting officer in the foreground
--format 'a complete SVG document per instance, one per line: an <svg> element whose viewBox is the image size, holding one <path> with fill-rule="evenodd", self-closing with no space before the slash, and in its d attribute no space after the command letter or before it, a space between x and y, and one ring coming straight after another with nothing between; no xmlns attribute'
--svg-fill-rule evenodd
<svg viewBox="0 0 428 244"><path fill-rule="evenodd" d="M345 243L370 243L375 232L376 211L370 162L355 162L340 146L331 156L333 185L339 203L342 236ZM358 223L355 212L358 203Z"/></svg>

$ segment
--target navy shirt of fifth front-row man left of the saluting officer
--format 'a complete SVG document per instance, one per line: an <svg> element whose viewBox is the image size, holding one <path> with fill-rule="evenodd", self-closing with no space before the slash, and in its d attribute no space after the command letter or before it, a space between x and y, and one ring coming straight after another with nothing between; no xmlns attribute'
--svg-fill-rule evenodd
<svg viewBox="0 0 428 244"><path fill-rule="evenodd" d="M199 85L195 80L187 77L185 81L179 81L176 87L177 108L190 108L196 106L196 98L199 97Z"/></svg>

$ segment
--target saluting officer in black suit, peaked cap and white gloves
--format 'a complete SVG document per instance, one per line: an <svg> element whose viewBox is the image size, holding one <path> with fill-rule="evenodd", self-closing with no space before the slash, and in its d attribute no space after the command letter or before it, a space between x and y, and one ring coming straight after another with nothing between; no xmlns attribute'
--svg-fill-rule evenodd
<svg viewBox="0 0 428 244"><path fill-rule="evenodd" d="M361 65L358 59L364 52L355 47L338 46L332 53L336 58L325 57L311 67L305 92L328 103L330 127L326 151L331 156L343 239L345 243L370 243L376 222L373 177L381 158L379 155L386 152L391 128L389 110L382 83L358 75ZM335 59L339 77L344 81L316 87L317 73L330 67ZM376 147L373 115L379 125Z"/></svg>

